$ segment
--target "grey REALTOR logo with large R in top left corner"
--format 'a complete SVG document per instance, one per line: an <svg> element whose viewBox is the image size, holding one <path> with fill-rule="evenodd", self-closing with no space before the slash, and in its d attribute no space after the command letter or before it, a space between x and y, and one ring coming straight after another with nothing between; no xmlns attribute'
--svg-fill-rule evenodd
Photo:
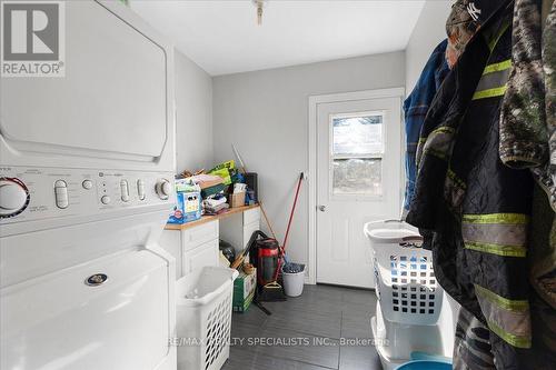
<svg viewBox="0 0 556 370"><path fill-rule="evenodd" d="M64 2L1 1L1 76L64 76Z"/></svg>

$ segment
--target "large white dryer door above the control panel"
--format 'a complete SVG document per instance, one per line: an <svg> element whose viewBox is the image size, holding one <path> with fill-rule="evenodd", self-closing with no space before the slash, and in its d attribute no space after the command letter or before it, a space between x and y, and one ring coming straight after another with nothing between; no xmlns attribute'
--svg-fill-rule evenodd
<svg viewBox="0 0 556 370"><path fill-rule="evenodd" d="M116 14L96 1L67 1L60 11L64 76L2 78L7 143L21 152L156 161L171 147L169 50L128 9Z"/></svg>

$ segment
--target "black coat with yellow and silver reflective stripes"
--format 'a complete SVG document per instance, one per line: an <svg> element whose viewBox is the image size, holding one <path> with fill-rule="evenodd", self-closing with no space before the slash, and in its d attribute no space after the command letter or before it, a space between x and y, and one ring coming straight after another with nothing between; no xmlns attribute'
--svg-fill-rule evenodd
<svg viewBox="0 0 556 370"><path fill-rule="evenodd" d="M498 154L513 10L508 1L499 6L466 46L425 120L407 221L428 231L439 283L488 328L492 348L484 354L497 369L528 369L533 180L529 171L504 166Z"/></svg>

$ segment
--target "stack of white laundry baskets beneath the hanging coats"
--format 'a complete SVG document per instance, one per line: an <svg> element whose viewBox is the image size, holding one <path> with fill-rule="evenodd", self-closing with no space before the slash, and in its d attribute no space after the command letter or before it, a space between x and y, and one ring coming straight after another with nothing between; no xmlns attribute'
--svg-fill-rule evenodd
<svg viewBox="0 0 556 370"><path fill-rule="evenodd" d="M454 343L451 310L443 304L433 254L420 248L417 229L399 220L369 222L378 296L370 320L376 349L385 370L407 362L420 351L450 357Z"/></svg>

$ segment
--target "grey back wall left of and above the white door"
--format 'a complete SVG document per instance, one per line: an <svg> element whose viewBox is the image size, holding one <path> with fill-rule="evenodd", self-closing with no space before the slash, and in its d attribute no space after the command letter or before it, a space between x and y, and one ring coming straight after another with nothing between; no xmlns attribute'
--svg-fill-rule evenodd
<svg viewBox="0 0 556 370"><path fill-rule="evenodd" d="M215 160L234 159L235 143L280 241L296 181L308 169L308 97L405 86L403 51L214 78ZM314 179L310 179L314 180ZM288 242L297 262L308 257L307 188ZM262 222L264 223L264 222Z"/></svg>

